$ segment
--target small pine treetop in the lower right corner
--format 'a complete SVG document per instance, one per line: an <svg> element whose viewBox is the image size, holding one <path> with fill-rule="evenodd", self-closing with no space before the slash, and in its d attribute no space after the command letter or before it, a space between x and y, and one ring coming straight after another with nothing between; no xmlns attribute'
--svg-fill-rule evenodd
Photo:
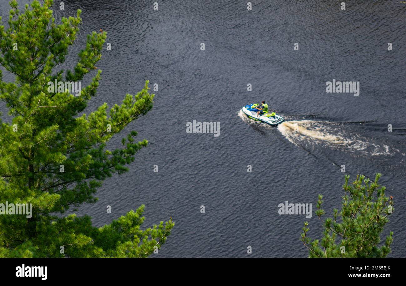
<svg viewBox="0 0 406 286"><path fill-rule="evenodd" d="M352 185L350 176L345 176L344 195L341 211L333 210L333 219L323 221L323 237L319 241L307 236L308 222L304 223L300 240L309 249L310 258L368 258L386 257L391 251L393 232L389 233L384 245L380 243L380 233L389 222L393 212L393 197L385 196L385 187L378 184L381 177L376 174L375 181L358 175ZM376 193L376 194L375 194ZM321 219L325 214L321 208L322 195L318 195L316 215Z"/></svg>

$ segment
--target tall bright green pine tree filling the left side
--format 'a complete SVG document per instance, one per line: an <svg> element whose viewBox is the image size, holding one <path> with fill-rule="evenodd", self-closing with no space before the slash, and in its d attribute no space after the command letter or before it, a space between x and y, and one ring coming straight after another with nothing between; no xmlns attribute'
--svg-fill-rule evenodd
<svg viewBox="0 0 406 286"><path fill-rule="evenodd" d="M127 171L134 154L147 145L134 141L137 133L131 131L122 148L105 148L114 134L152 108L154 95L146 81L109 112L104 103L82 114L99 85L102 71L95 64L106 32L88 35L73 70L56 70L82 20L78 10L76 17L56 24L52 4L35 0L19 11L12 0L9 27L0 26L0 64L15 76L15 82L3 82L0 71L0 100L12 118L11 124L0 121L0 203L32 204L31 217L0 215L0 257L147 257L166 241L172 219L141 230L144 205L101 228L88 216L63 216L72 206L96 202L102 181ZM78 96L69 86L59 88L59 82L81 82L93 72ZM55 80L58 89L52 90Z"/></svg>

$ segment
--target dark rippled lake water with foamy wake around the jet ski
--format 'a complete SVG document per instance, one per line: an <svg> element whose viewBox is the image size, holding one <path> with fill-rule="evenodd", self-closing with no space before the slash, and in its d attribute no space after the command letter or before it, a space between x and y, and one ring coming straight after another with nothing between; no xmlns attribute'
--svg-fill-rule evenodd
<svg viewBox="0 0 406 286"><path fill-rule="evenodd" d="M248 11L244 1L165 0L154 11L153 1L64 1L65 10L56 2L57 20L82 9L66 67L91 31L106 30L112 45L97 64L102 80L87 114L119 104L146 79L158 84L154 108L108 145L136 130L149 146L76 214L101 226L145 204L145 228L172 217L159 257L307 257L303 222L321 238L317 194L327 214L340 208L345 165L350 180L382 173L395 211L381 238L393 231L389 256L406 256L406 4L354 0L341 10L337 1L252 1ZM326 93L333 79L359 81L359 95ZM272 128L239 116L261 100L287 122ZM0 111L6 120L4 104ZM186 133L193 120L220 122L220 136ZM313 217L279 215L285 201L313 203Z"/></svg>

